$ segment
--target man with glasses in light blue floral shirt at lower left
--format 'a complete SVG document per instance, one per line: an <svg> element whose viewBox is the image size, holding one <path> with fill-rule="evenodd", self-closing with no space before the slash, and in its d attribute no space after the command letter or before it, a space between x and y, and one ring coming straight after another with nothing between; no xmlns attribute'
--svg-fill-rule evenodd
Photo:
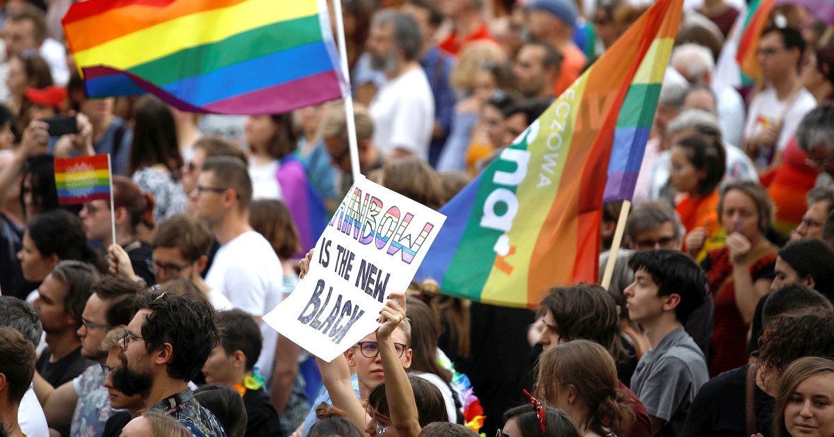
<svg viewBox="0 0 834 437"><path fill-rule="evenodd" d="M74 380L53 388L38 375L35 376L35 392L46 412L49 426L69 435L101 435L110 408L108 390L104 387L102 365L107 351L101 350L104 335L110 328L123 328L133 316L133 306L142 287L138 283L115 276L105 276L93 286L93 294L81 313L81 355L95 360Z"/></svg>

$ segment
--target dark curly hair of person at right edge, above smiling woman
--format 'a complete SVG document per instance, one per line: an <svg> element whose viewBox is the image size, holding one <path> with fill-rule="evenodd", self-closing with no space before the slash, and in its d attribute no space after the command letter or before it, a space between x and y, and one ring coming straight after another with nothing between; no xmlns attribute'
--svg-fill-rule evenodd
<svg viewBox="0 0 834 437"><path fill-rule="evenodd" d="M803 356L834 356L834 314L799 310L777 315L759 339L763 374L782 375L793 360Z"/></svg>

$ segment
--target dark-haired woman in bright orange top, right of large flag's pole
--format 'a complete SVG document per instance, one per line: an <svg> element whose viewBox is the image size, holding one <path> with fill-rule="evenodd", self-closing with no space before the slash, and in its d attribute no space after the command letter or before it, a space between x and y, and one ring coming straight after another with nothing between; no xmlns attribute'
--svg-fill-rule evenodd
<svg viewBox="0 0 834 437"><path fill-rule="evenodd" d="M724 146L712 137L686 137L672 144L670 162L669 182L683 196L675 210L689 232L683 250L703 258L721 231L716 205L726 166Z"/></svg>

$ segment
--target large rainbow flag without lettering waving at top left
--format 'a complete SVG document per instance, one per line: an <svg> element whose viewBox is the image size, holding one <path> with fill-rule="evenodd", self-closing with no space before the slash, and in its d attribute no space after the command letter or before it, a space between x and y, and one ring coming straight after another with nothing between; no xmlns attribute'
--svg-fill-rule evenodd
<svg viewBox="0 0 834 437"><path fill-rule="evenodd" d="M88 0L63 18L89 97L269 114L348 90L326 0Z"/></svg>

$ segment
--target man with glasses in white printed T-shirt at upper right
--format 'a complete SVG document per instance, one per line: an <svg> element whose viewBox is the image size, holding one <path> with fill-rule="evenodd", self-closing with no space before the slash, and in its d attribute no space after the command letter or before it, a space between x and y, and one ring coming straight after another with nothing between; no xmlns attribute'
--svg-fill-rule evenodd
<svg viewBox="0 0 834 437"><path fill-rule="evenodd" d="M741 142L760 175L776 170L802 117L816 107L799 76L805 47L801 33L791 27L767 27L761 32L756 57L771 87L753 97Z"/></svg>

